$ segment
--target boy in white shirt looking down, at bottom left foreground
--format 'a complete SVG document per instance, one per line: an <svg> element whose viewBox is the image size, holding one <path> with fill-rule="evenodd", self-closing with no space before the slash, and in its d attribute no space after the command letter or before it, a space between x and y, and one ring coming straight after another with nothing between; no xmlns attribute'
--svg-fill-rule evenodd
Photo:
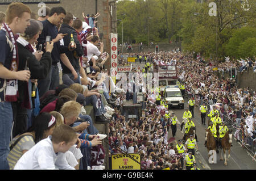
<svg viewBox="0 0 256 181"><path fill-rule="evenodd" d="M52 136L23 154L14 170L75 170L65 159L65 153L76 144L77 139L75 130L62 124L54 129Z"/></svg>

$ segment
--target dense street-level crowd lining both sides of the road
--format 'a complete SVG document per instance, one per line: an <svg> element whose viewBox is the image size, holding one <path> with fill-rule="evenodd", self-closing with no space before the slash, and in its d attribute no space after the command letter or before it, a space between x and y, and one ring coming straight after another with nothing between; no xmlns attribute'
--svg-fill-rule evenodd
<svg viewBox="0 0 256 181"><path fill-rule="evenodd" d="M146 62L151 62L154 66L177 65L179 81L185 85L188 97L196 100L195 103L199 107L208 105L209 112L216 106L221 120L237 129L235 137L252 146L256 135L256 93L249 87L239 89L235 79L217 76L217 72L229 71L231 68L239 69L237 62L229 58L224 62L205 62L203 58L193 58L193 54L175 51L129 54L129 57L137 56L137 61L141 58L145 65ZM143 72L139 67L133 71ZM137 81L142 82L142 79ZM166 133L171 127L170 119L161 115L154 102L148 100L152 92L144 90L144 93L148 95L143 100L145 116L140 117L139 121L126 119L116 110L109 125L109 144L112 145L110 153L139 153L142 169L183 169L183 161L180 161L183 157L179 157L179 150L167 140ZM124 95L123 100L129 100L127 96L129 94ZM243 140L239 132L243 134Z"/></svg>

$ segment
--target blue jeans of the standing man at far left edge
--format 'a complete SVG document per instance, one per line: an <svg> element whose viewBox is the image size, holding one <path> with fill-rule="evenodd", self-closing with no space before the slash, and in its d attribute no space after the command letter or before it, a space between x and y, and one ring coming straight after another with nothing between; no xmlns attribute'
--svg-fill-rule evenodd
<svg viewBox="0 0 256 181"><path fill-rule="evenodd" d="M13 125L13 108L10 102L0 102L0 170L9 170L11 127Z"/></svg>

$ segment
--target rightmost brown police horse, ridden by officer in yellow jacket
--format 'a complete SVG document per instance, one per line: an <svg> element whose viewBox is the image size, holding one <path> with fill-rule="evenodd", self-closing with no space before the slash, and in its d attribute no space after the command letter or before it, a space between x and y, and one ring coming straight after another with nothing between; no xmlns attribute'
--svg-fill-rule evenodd
<svg viewBox="0 0 256 181"><path fill-rule="evenodd" d="M221 146L222 146L222 148L220 148L220 149L223 149L223 153L224 153L224 165L225 165L225 166L228 165L228 163L226 162L226 161L228 160L228 159L226 158L226 151L229 152L228 158L230 158L230 148L231 148L231 144L232 144L232 130L226 132L225 136L224 136L224 137L222 138L222 140L221 140ZM221 151L220 151L220 153L221 153ZM222 154L221 154L220 160L223 161Z"/></svg>

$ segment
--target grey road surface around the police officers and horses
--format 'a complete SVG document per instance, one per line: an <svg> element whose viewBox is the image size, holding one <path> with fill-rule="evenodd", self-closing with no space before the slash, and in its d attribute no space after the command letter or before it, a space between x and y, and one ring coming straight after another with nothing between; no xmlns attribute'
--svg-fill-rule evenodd
<svg viewBox="0 0 256 181"><path fill-rule="evenodd" d="M185 103L188 100L185 99ZM187 105L185 105L187 106ZM180 110L178 108L171 108L170 113L174 112L177 116L177 132L175 136L175 140L173 141L174 144L177 144L177 141L183 138L184 133L180 131L180 124L182 122L183 113L185 110ZM205 129L207 129L207 125L201 124L201 116L199 112L199 108L195 107L194 109L195 117L192 118L192 121L195 123L196 126L196 134L198 141L197 145L199 147L199 152L196 153L196 163L198 167L202 170L255 170L256 169L256 162L253 161L253 155L247 151L246 149L242 148L240 142L237 142L232 137L233 143L232 148L230 151L230 158L228 159L228 165L224 165L224 161L220 161L220 153L222 152L222 157L224 158L223 151L221 150L220 153L217 154L217 163L209 163L208 161L208 150L204 147L205 142ZM207 122L207 121L206 121ZM168 132L168 139L172 137L171 128ZM228 154L226 153L227 158ZM185 166L184 166L185 167Z"/></svg>

